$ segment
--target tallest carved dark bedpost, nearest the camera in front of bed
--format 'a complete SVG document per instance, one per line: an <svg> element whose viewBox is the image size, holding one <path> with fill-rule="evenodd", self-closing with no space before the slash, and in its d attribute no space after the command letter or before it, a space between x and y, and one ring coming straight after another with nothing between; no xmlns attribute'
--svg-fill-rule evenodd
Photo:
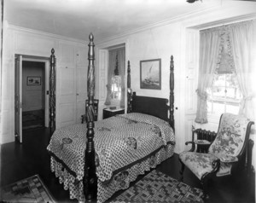
<svg viewBox="0 0 256 203"><path fill-rule="evenodd" d="M96 177L96 153L94 148L94 94L95 94L95 53L94 53L94 43L93 35L90 33L89 36L90 43L88 44L88 74L87 74L87 94L88 94L88 108L86 117L87 122L87 142L86 149L84 153L84 196L86 202L96 202L97 198L97 177Z"/></svg>

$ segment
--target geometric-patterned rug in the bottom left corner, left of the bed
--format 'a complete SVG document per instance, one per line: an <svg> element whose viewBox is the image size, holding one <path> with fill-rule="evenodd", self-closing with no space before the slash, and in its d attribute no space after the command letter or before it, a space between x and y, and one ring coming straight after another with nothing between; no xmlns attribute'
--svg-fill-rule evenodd
<svg viewBox="0 0 256 203"><path fill-rule="evenodd" d="M0 194L0 202L55 202L38 175L4 186L0 188Z"/></svg>

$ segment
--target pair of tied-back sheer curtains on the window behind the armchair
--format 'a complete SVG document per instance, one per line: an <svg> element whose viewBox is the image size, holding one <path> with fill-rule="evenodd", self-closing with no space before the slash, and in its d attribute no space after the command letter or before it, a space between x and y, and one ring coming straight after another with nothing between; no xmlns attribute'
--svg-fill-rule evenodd
<svg viewBox="0 0 256 203"><path fill-rule="evenodd" d="M243 99L240 114L254 120L253 53L255 53L255 20L218 26L200 33L199 80L195 122L207 123L207 88L214 73L223 73L223 54L227 57L231 73L236 73ZM223 52L225 50L225 52ZM254 61L255 62L255 61ZM254 68L255 69L255 68ZM253 93L254 92L254 93Z"/></svg>

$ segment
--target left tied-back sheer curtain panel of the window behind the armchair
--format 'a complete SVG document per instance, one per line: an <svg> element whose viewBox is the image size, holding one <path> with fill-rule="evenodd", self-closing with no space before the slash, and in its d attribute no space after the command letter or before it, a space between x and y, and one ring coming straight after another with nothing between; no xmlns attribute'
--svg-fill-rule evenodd
<svg viewBox="0 0 256 203"><path fill-rule="evenodd" d="M200 33L199 79L197 87L196 123L207 123L207 88L212 84L213 73L218 68L222 46L219 29Z"/></svg>

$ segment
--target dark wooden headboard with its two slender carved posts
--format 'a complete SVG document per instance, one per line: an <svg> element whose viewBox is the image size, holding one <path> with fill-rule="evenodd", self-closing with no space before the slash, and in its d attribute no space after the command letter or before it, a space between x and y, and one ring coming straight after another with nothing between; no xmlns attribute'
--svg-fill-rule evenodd
<svg viewBox="0 0 256 203"><path fill-rule="evenodd" d="M173 56L171 56L170 62L170 97L168 106L168 100L165 98L149 97L149 96L137 96L131 90L131 67L130 61L128 61L127 68L127 113L145 113L153 115L160 119L164 119L171 125L174 131L174 66Z"/></svg>

